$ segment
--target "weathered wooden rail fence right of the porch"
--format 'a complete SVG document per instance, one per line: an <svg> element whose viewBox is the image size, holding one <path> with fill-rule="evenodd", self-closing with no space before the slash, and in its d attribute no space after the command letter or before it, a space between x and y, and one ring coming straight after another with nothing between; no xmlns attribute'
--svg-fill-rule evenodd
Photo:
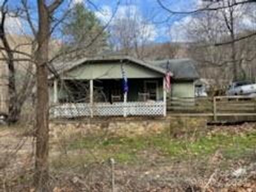
<svg viewBox="0 0 256 192"><path fill-rule="evenodd" d="M213 116L255 116L256 98L219 96L214 98L171 98L167 102L169 114L203 114Z"/></svg>

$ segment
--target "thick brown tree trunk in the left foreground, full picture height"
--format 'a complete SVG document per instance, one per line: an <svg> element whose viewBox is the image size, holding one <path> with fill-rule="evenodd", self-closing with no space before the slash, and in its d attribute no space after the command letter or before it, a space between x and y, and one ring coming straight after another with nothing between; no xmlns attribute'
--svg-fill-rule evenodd
<svg viewBox="0 0 256 192"><path fill-rule="evenodd" d="M34 185L36 191L50 191L49 178L49 94L47 62L49 54L50 17L44 0L37 0L39 29L36 52L36 157Z"/></svg>

